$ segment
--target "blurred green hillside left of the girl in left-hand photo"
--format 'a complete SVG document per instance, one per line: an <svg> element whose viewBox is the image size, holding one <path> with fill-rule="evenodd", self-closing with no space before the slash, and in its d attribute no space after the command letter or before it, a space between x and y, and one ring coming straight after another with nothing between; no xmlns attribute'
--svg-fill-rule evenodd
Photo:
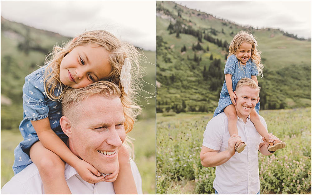
<svg viewBox="0 0 312 195"><path fill-rule="evenodd" d="M68 41L1 17L1 129L17 129L23 117L22 86L25 76L44 65L53 46ZM3 102L4 98L8 102Z"/></svg>

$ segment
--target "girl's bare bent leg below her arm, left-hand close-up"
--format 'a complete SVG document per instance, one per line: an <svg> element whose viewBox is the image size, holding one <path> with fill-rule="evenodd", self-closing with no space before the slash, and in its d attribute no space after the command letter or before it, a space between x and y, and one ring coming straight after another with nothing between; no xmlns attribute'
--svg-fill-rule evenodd
<svg viewBox="0 0 312 195"><path fill-rule="evenodd" d="M32 145L29 153L39 170L45 194L71 194L64 175L65 163L58 155L40 141Z"/></svg>

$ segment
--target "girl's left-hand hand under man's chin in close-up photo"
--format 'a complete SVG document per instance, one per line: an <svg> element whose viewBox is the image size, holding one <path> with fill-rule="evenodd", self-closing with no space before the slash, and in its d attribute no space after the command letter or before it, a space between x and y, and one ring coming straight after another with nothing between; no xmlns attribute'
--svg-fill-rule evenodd
<svg viewBox="0 0 312 195"><path fill-rule="evenodd" d="M80 177L88 183L98 183L105 181L104 176L101 175L101 173L96 168L84 160L80 159L74 168Z"/></svg>

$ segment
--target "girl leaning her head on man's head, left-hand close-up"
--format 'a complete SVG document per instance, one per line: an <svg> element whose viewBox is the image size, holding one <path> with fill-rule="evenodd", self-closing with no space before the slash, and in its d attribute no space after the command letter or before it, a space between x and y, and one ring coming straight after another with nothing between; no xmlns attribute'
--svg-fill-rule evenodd
<svg viewBox="0 0 312 195"><path fill-rule="evenodd" d="M53 52L46 57L46 65L25 78L24 119L19 126L24 141L14 150L14 173L34 162L46 194L71 193L64 177L63 161L74 167L88 183L115 181L119 170L103 176L66 146L67 137L59 123L62 116L61 99L69 87L82 88L98 80L114 82L122 92L123 105L132 110L130 114L125 114L127 134L133 129L135 117L141 111L135 105L140 81L140 56L134 46L120 42L103 30L85 32L62 47L54 46ZM124 146L120 151L118 156L122 158L119 159L119 167L123 167L129 161L124 154L129 153ZM131 173L131 170L125 170L127 173L129 171ZM127 188L123 188L122 184L127 184ZM137 193L132 174L118 178L114 188L117 194Z"/></svg>

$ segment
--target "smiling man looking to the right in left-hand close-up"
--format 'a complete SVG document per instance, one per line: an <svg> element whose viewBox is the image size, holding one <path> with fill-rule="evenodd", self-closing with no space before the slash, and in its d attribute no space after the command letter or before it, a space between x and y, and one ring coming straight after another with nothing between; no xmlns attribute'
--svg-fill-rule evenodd
<svg viewBox="0 0 312 195"><path fill-rule="evenodd" d="M62 114L60 124L68 136L69 149L101 173L117 170L119 149L126 138L119 88L111 82L99 81L85 88L67 90L62 100ZM142 179L136 164L130 160L127 166L131 166L134 178L129 183L135 182L137 192L142 194ZM67 163L65 178L72 194L115 194L113 183L85 182ZM127 185L125 183L124 187ZM1 193L44 194L36 165L32 163L16 174L3 186Z"/></svg>

